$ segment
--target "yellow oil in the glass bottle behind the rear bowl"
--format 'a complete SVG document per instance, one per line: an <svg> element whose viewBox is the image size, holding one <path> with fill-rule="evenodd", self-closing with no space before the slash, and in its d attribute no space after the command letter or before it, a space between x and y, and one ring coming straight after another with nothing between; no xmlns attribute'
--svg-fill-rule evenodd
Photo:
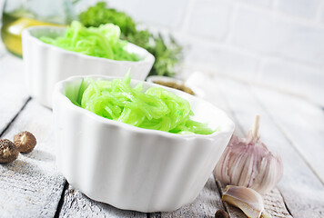
<svg viewBox="0 0 324 218"><path fill-rule="evenodd" d="M55 25L46 22L37 21L31 18L21 17L11 24L4 25L1 30L2 40L6 49L10 52L22 55L22 40L21 34L23 30L29 26L34 25Z"/></svg>

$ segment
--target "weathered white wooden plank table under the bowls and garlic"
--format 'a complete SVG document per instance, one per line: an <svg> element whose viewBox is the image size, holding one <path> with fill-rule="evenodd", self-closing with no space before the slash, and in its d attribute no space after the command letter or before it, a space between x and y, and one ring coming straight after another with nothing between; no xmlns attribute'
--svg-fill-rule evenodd
<svg viewBox="0 0 324 218"><path fill-rule="evenodd" d="M197 75L197 74L196 74ZM278 151L284 176L264 196L272 217L324 217L324 113L298 97L223 77L197 76L205 98L227 111L247 134L254 114L261 114L261 140ZM25 92L23 63L0 49L0 138L20 131L37 138L35 150L0 164L0 217L213 217L218 209L246 217L221 202L222 185L211 175L194 203L170 213L122 211L90 200L56 170L52 111Z"/></svg>

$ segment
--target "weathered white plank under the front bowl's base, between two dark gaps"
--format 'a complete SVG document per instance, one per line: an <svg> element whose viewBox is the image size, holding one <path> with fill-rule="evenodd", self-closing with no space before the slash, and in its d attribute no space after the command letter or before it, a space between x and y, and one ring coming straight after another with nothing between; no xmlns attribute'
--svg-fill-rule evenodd
<svg viewBox="0 0 324 218"><path fill-rule="evenodd" d="M59 217L147 218L147 213L119 210L109 204L96 202L69 185Z"/></svg>

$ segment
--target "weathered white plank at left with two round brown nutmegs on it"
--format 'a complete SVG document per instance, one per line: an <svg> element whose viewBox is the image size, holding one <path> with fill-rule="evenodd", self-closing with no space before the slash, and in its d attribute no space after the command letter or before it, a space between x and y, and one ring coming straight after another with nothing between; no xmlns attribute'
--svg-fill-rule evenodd
<svg viewBox="0 0 324 218"><path fill-rule="evenodd" d="M37 144L13 163L0 164L0 217L53 217L66 180L56 170L52 112L30 101L2 138L25 130Z"/></svg>

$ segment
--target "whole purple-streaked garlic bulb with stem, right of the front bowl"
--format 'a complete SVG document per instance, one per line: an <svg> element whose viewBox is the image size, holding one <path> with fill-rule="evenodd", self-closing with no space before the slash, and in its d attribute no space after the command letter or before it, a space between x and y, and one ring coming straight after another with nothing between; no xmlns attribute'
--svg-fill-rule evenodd
<svg viewBox="0 0 324 218"><path fill-rule="evenodd" d="M256 115L247 138L233 135L220 157L214 174L225 184L252 188L258 193L267 193L282 176L282 161L268 151L258 135L259 116Z"/></svg>

